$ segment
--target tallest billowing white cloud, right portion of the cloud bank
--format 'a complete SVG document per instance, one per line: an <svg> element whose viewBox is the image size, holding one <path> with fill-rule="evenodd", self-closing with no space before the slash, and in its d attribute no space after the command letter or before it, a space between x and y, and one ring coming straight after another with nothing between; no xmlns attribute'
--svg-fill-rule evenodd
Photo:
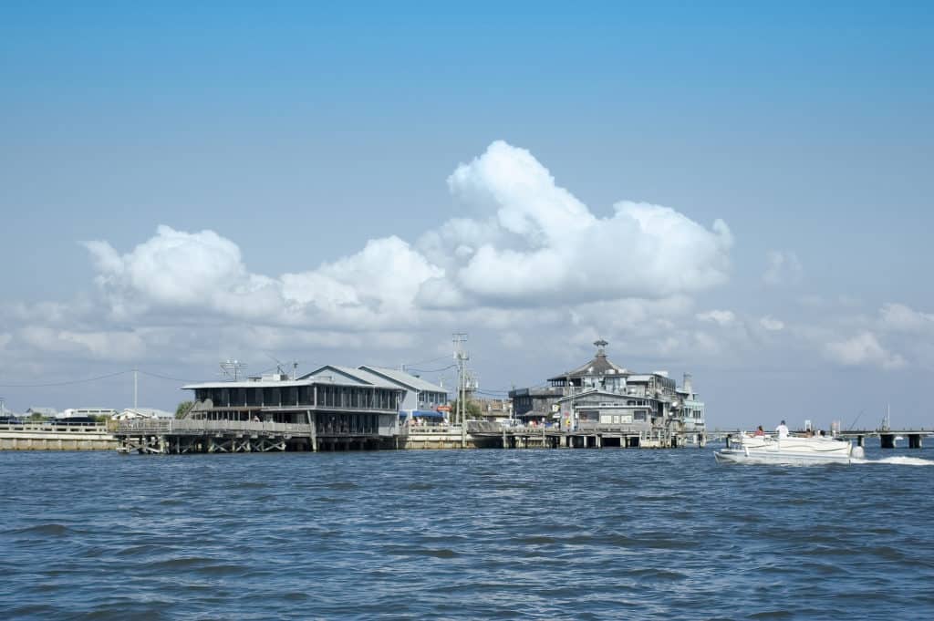
<svg viewBox="0 0 934 621"><path fill-rule="evenodd" d="M732 236L659 205L620 202L598 218L525 149L498 141L448 178L480 219L457 219L417 247L465 297L487 304L660 298L728 279ZM455 248L439 257L441 248Z"/></svg>

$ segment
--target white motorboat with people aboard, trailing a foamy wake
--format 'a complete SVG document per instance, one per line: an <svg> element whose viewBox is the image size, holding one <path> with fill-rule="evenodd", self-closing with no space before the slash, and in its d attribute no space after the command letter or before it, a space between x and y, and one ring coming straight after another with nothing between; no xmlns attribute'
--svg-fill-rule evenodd
<svg viewBox="0 0 934 621"><path fill-rule="evenodd" d="M714 458L718 463L807 466L851 463L864 459L865 454L861 446L824 436L779 438L743 433L739 438L731 438L726 448L715 451Z"/></svg>

